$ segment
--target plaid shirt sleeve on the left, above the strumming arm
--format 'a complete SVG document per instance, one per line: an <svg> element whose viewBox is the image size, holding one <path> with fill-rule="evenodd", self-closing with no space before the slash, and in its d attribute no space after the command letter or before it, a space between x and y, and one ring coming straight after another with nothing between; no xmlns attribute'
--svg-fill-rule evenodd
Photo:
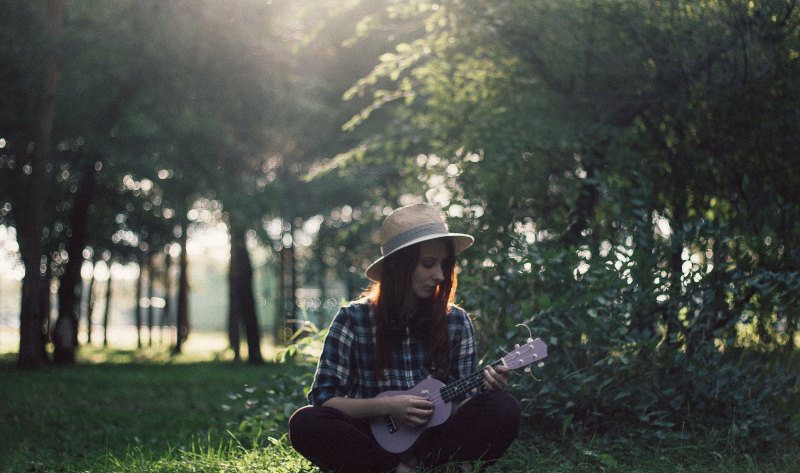
<svg viewBox="0 0 800 473"><path fill-rule="evenodd" d="M332 397L347 394L354 339L351 320L346 309L342 308L331 321L322 346L314 382L308 393L311 405L321 406Z"/></svg>

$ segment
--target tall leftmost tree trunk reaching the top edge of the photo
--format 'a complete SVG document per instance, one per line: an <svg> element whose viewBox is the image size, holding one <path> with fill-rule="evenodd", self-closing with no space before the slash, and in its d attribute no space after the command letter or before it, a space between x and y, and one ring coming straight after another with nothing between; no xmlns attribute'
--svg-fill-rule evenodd
<svg viewBox="0 0 800 473"><path fill-rule="evenodd" d="M64 18L64 1L49 0L47 13L53 47L44 58L44 77L36 104L36 129L34 150L30 165L22 166L28 174L20 180L22 199L17 199L17 239L19 241L25 277L22 281L20 307L19 357L20 368L36 368L47 362L42 326L45 314L41 312L39 295L42 279L42 229L44 227L44 201L47 193L46 162L50 154L50 140L55 116L55 94L61 73L61 52L58 41Z"/></svg>

